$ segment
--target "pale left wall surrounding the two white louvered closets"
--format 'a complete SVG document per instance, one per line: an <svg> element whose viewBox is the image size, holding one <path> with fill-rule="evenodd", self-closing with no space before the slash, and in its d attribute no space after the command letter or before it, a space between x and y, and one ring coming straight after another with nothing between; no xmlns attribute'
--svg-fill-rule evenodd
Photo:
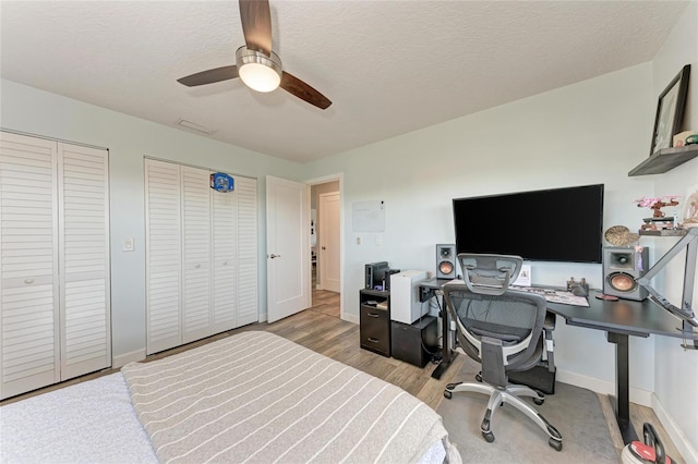
<svg viewBox="0 0 698 464"><path fill-rule="evenodd" d="M109 148L111 333L116 359L140 359L145 354L144 156L258 179L258 292L260 312L265 317L265 175L299 179L300 164L10 81L0 81L0 97L2 129ZM125 237L135 239L135 252L121 251Z"/></svg>

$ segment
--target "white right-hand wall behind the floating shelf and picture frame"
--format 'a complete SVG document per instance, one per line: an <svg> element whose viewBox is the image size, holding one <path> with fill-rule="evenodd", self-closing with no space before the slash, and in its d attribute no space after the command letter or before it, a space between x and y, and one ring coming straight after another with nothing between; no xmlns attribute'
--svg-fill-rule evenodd
<svg viewBox="0 0 698 464"><path fill-rule="evenodd" d="M688 102L683 130L698 131L698 2L693 1L652 63L653 94L659 96L684 64L691 65ZM654 103L657 105L657 102ZM638 158L641 160L641 157ZM654 193L685 197L698 185L698 159L664 174L652 175ZM679 206L683 210L684 204ZM658 252L666 252L676 240L655 239ZM658 276L659 279L659 276ZM665 269L663 293L681 306L684 255L676 256ZM698 276L691 307L698 310ZM654 351L654 411L664 427L671 429L686 462L698 462L698 351L684 351L677 339L657 338ZM693 394L691 394L693 393Z"/></svg>

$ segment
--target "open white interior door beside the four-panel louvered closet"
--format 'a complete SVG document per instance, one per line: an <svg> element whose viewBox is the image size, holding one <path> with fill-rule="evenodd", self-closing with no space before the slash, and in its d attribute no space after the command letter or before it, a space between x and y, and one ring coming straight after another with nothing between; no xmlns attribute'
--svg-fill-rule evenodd
<svg viewBox="0 0 698 464"><path fill-rule="evenodd" d="M310 306L310 187L266 178L267 320Z"/></svg>

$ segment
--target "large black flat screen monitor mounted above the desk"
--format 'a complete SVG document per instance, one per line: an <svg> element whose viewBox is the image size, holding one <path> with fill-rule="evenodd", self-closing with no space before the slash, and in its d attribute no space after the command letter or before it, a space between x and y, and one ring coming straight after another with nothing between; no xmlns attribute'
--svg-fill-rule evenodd
<svg viewBox="0 0 698 464"><path fill-rule="evenodd" d="M603 184L454 199L457 253L601 262Z"/></svg>

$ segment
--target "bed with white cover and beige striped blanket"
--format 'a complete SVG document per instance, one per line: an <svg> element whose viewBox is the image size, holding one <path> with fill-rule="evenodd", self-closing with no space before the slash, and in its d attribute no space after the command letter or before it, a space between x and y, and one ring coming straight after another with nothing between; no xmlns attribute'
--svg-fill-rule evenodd
<svg viewBox="0 0 698 464"><path fill-rule="evenodd" d="M2 462L459 463L398 387L249 331L0 407Z"/></svg>

